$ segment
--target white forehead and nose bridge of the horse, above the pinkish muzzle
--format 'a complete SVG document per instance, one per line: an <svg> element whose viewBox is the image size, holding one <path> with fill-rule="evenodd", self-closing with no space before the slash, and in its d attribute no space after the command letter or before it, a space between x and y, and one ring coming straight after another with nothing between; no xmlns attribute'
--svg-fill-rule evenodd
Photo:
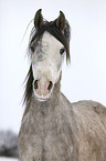
<svg viewBox="0 0 106 161"><path fill-rule="evenodd" d="M35 80L44 76L53 83L59 81L62 70L63 56L60 54L60 49L62 48L64 48L63 44L47 31L43 33L32 56L33 77Z"/></svg>

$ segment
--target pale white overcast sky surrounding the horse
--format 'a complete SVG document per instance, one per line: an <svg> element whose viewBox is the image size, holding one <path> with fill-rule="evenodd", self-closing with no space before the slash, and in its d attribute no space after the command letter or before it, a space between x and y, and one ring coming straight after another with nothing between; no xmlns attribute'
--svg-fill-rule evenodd
<svg viewBox="0 0 106 161"><path fill-rule="evenodd" d="M20 129L33 22L24 32L40 8L50 21L62 10L71 24L72 62L63 64L62 92L71 102L106 105L106 0L0 0L0 131Z"/></svg>

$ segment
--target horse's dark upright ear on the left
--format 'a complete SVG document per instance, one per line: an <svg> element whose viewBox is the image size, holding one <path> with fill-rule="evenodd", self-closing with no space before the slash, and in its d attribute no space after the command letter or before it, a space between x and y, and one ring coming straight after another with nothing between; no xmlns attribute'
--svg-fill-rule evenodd
<svg viewBox="0 0 106 161"><path fill-rule="evenodd" d="M42 9L38 10L34 17L34 27L39 30L43 26L43 17L41 13Z"/></svg>

